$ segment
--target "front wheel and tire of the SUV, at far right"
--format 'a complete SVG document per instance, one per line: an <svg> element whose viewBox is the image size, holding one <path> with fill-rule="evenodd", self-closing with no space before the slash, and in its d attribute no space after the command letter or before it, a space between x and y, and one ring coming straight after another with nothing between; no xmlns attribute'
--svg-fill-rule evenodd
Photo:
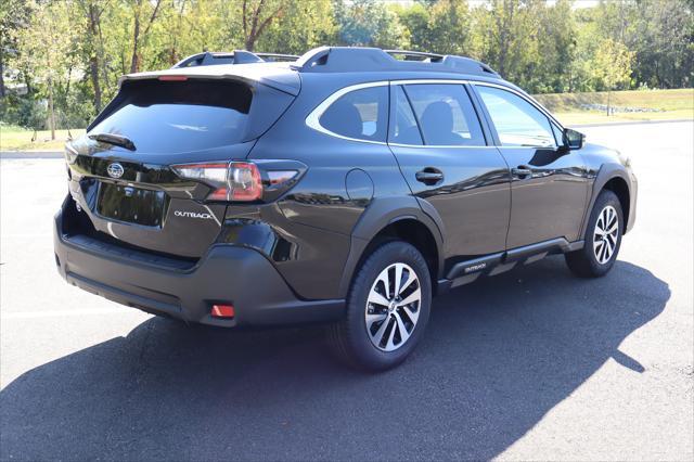
<svg viewBox="0 0 694 462"><path fill-rule="evenodd" d="M617 260L624 226L619 198L614 192L603 190L591 210L583 236L583 248L565 256L568 268L581 278L600 278L607 274ZM604 232L605 228L608 232Z"/></svg>

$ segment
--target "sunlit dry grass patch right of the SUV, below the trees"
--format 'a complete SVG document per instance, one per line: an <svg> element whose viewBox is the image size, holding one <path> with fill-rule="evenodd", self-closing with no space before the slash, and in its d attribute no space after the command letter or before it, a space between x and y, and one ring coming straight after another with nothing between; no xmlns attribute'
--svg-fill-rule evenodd
<svg viewBox="0 0 694 462"><path fill-rule="evenodd" d="M607 92L537 94L535 98L566 125L617 121L694 119L694 89L613 91L611 105L658 112L621 113L589 111L581 104L607 104Z"/></svg>

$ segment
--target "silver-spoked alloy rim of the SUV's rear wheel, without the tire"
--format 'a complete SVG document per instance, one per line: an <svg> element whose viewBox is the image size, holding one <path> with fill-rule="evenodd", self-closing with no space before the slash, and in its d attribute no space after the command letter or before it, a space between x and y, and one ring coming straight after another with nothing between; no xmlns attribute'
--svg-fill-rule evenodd
<svg viewBox="0 0 694 462"><path fill-rule="evenodd" d="M409 265L396 262L381 271L367 300L371 343L383 351L404 345L416 326L421 301L420 280Z"/></svg>

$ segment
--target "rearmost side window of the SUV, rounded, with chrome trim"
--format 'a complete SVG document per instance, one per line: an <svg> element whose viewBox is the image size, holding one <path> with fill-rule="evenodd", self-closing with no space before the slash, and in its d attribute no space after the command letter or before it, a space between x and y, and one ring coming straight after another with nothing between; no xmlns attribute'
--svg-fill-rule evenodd
<svg viewBox="0 0 694 462"><path fill-rule="evenodd" d="M323 112L319 124L342 137L385 142L387 114L388 88L362 88L338 98Z"/></svg>

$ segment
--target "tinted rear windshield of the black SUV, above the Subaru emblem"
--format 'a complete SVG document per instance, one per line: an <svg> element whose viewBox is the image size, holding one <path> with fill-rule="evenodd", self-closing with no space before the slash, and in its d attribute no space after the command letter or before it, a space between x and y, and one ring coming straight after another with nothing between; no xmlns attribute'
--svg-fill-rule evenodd
<svg viewBox="0 0 694 462"><path fill-rule="evenodd" d="M146 153L235 144L259 136L286 108L287 98L292 100L285 93L267 88L261 100L278 93L278 101L270 105L274 114L272 117L262 114L258 121L266 126L250 129L250 114L257 105L254 93L248 85L229 80L126 81L114 101L115 106L89 133L125 136L138 152Z"/></svg>

